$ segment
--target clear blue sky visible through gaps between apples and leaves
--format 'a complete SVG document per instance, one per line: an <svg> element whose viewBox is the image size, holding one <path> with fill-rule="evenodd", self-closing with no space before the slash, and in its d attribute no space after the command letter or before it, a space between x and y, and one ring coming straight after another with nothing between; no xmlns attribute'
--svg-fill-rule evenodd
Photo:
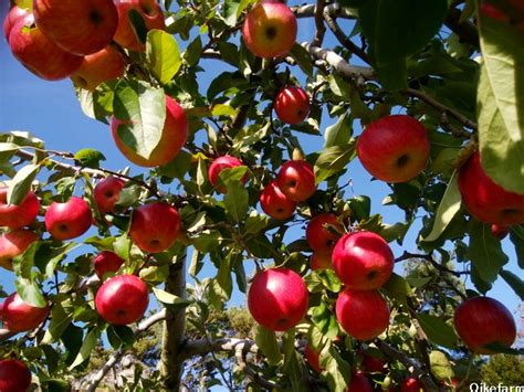
<svg viewBox="0 0 524 392"><path fill-rule="evenodd" d="M0 2L2 20L7 3L8 1ZM290 4L295 3L298 1L290 1ZM313 21L300 21L298 29L298 41L310 40L313 33ZM129 165L116 149L108 127L87 118L82 113L69 80L46 82L33 76L12 57L3 36L0 41L0 131L29 130L43 139L48 148L55 150L77 151L87 147L97 149L107 158L103 165L108 169L118 170ZM326 44L327 46L334 44L332 36L328 36ZM206 86L223 70L220 63L212 61L206 61L202 66L207 70L207 76L200 81L202 86ZM205 92L205 87L201 87L201 91ZM321 126L322 131L333 121L334 119L326 118ZM318 150L322 145L322 137L307 137L304 142L306 152ZM138 173L139 170L133 168L133 173ZM357 160L350 163L349 173L355 194L368 194L373 198L373 213L381 213L386 223L395 223L404 219L404 212L398 208L381 205L381 201L390 192L389 188L380 181L370 181L370 176ZM347 197L350 195L350 193L347 194ZM411 227L404 247L392 245L396 256L401 255L404 250L417 252L415 239L418 231L419 224ZM292 236L302 235L303 227L292 233ZM522 275L516 265L514 248L509 240L504 241L504 250L511 258L506 268ZM202 274L213 276L214 271L208 267ZM13 289L13 278L12 273L0 272L0 284L7 292ZM512 311L520 303L502 278L495 283L489 295L503 301ZM235 292L231 304L244 305L245 298Z"/></svg>

